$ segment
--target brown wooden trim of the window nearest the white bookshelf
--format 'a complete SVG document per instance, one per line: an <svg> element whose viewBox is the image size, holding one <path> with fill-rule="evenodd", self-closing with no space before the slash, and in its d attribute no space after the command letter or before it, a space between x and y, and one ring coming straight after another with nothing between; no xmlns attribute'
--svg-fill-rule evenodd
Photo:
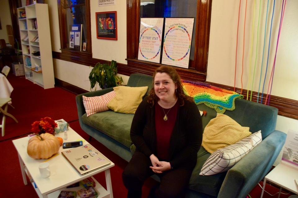
<svg viewBox="0 0 298 198"><path fill-rule="evenodd" d="M65 9L63 9L64 1L63 0L57 0L58 3L58 14L59 14L59 30L60 30L60 44L61 44L61 52L65 59L67 59L70 62L75 62L75 60L80 58L92 58L92 43L91 43L91 13L90 13L90 0L86 0L86 25L89 29L86 32L87 37L87 46L86 51L75 51L67 48L67 39L68 39L68 32L67 29L65 29L65 16L66 12Z"/></svg>

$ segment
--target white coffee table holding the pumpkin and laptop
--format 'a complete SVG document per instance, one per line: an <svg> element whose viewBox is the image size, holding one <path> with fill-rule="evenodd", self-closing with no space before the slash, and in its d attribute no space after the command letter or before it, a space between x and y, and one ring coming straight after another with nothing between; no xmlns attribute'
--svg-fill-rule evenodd
<svg viewBox="0 0 298 198"><path fill-rule="evenodd" d="M67 142L83 140L83 144L88 144L86 140L84 140L79 134L77 134L73 129L69 127L67 131L68 138ZM64 138L64 132L56 135L57 137ZM42 178L40 176L38 165L45 161L45 159L33 159L29 157L27 154L27 145L28 145L29 137L23 137L20 139L12 140L13 144L16 147L16 150L19 155L19 161L21 166L21 172L23 176L24 184L27 185L26 174L30 174L33 181L31 182L35 191L37 192L39 197L54 197L57 198L59 193L62 190L66 191L78 191L82 189L83 186L74 187L74 188L66 188L67 186L77 183L83 179L91 177L95 174L101 173L105 171L106 175L106 187L107 190L102 187L94 178L93 180L96 182L96 191L98 193L99 198L113 198L112 192L112 183L111 183L111 174L110 168L115 166L113 162L111 164L103 166L97 170L91 171L88 174L80 175L71 164L65 160L62 156L61 152L67 149L62 149L62 146L59 149L59 155L50 159L48 162L50 163L50 171L51 175L47 178ZM35 184L37 187L35 187ZM77 196L79 198L79 196Z"/></svg>

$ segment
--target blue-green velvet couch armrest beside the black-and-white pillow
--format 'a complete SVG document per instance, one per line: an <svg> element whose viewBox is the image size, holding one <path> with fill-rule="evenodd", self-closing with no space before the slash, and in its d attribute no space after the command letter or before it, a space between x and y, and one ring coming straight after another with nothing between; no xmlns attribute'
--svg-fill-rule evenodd
<svg viewBox="0 0 298 198"><path fill-rule="evenodd" d="M285 143L286 136L281 131L273 131L228 170L218 198L246 197L273 166Z"/></svg>

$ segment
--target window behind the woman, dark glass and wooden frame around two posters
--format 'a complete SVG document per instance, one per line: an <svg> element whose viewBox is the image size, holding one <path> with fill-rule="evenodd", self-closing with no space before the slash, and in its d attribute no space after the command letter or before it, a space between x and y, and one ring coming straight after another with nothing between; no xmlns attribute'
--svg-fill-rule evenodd
<svg viewBox="0 0 298 198"><path fill-rule="evenodd" d="M127 67L124 75L151 75L161 64L138 60L138 39L141 17L195 17L189 68L176 68L182 78L206 80L212 0L127 0Z"/></svg>

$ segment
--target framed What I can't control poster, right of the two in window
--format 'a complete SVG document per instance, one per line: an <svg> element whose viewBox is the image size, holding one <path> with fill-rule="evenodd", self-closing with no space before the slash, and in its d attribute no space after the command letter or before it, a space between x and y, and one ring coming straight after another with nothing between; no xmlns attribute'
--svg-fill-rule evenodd
<svg viewBox="0 0 298 198"><path fill-rule="evenodd" d="M165 18L161 63L188 68L194 18Z"/></svg>

